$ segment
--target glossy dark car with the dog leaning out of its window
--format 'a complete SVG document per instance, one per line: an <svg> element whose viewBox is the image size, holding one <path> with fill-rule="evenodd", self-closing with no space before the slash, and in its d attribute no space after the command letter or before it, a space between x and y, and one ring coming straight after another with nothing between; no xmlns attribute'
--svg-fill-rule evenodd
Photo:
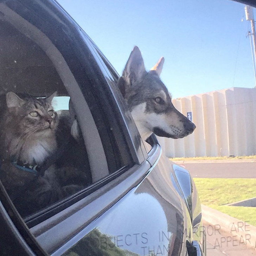
<svg viewBox="0 0 256 256"><path fill-rule="evenodd" d="M155 135L142 141L119 75L90 37L53 0L1 1L0 10L0 104L10 91L54 96L66 128L59 124L62 151L47 168L75 186L38 207L40 195L25 200L33 184L13 198L1 176L1 255L206 255L190 173Z"/></svg>

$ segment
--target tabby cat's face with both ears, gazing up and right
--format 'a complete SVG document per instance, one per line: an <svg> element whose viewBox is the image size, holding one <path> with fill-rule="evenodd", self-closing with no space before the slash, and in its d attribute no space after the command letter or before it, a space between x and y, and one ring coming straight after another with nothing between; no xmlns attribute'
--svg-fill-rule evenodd
<svg viewBox="0 0 256 256"><path fill-rule="evenodd" d="M55 132L58 124L57 113L53 110L52 99L56 92L47 98L24 97L8 92L6 103L17 126L23 135L47 135Z"/></svg>

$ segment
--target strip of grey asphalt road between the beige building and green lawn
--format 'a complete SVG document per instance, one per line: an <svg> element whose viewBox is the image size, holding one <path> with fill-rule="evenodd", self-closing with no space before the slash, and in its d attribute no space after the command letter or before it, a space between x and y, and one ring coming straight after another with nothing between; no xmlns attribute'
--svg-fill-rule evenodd
<svg viewBox="0 0 256 256"><path fill-rule="evenodd" d="M256 162L184 163L193 178L256 178Z"/></svg>

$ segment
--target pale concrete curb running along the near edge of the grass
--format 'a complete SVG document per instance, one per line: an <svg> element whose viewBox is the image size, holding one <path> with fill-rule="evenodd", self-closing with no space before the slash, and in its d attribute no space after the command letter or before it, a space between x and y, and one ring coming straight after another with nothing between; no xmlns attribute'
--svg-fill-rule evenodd
<svg viewBox="0 0 256 256"><path fill-rule="evenodd" d="M236 243L244 242L245 246L254 249L256 246L256 227L248 222L233 218L206 205L201 205L203 221L216 230L220 229L235 239Z"/></svg>

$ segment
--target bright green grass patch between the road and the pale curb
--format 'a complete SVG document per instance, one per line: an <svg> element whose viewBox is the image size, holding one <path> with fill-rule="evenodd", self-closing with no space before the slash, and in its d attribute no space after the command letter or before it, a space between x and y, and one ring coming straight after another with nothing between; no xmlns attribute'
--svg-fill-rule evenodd
<svg viewBox="0 0 256 256"><path fill-rule="evenodd" d="M256 226L256 207L224 204L256 197L256 179L194 178L201 204Z"/></svg>

